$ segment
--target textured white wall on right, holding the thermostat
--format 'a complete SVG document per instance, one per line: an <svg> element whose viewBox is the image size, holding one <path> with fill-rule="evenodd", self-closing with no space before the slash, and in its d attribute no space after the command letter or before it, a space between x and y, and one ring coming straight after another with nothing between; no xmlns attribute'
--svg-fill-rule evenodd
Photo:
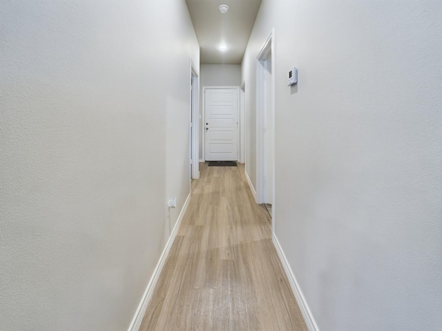
<svg viewBox="0 0 442 331"><path fill-rule="evenodd" d="M276 237L320 330L441 329L441 22L439 1L262 1L247 159L275 28Z"/></svg>

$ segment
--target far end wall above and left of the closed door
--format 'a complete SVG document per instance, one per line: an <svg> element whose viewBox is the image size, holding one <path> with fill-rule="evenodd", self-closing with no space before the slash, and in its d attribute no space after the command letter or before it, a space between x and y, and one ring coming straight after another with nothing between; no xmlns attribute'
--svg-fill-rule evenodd
<svg viewBox="0 0 442 331"><path fill-rule="evenodd" d="M202 117L202 88L206 86L240 86L241 66L239 64L202 64L200 66L200 117ZM200 119L200 159L202 155L202 134L204 123Z"/></svg>

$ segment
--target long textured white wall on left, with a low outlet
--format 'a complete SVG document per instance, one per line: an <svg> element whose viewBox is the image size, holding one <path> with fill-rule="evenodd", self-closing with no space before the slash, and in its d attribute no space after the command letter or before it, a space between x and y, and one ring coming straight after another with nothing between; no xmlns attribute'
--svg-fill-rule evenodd
<svg viewBox="0 0 442 331"><path fill-rule="evenodd" d="M0 330L127 330L189 194L186 4L3 0L0 21Z"/></svg>

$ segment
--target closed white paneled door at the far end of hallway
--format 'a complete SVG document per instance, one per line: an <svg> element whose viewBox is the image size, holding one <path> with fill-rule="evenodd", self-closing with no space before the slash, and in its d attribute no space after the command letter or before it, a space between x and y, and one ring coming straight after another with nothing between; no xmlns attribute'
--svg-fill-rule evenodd
<svg viewBox="0 0 442 331"><path fill-rule="evenodd" d="M238 161L238 89L204 89L204 157Z"/></svg>

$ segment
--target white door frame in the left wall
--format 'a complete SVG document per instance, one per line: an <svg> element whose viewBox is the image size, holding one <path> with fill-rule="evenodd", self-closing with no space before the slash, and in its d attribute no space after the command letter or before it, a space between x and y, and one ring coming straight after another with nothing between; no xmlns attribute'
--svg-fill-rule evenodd
<svg viewBox="0 0 442 331"><path fill-rule="evenodd" d="M193 61L191 60L190 123L189 123L189 132L191 132L192 134L192 137L190 139L191 155L189 159L189 164L191 165L191 177L190 177L191 180L200 178L200 159L198 155L198 152L200 150L199 124L200 124L200 74L193 65Z"/></svg>

